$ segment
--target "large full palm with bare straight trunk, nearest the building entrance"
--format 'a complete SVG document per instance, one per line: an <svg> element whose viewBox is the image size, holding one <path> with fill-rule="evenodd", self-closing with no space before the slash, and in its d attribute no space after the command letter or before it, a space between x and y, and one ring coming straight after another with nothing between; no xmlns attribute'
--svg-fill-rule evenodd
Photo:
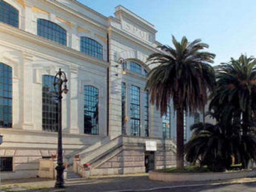
<svg viewBox="0 0 256 192"><path fill-rule="evenodd" d="M160 108L161 116L166 114L170 99L177 112L177 168L184 165L184 111L203 111L207 102L207 91L213 90L215 73L209 63L215 55L202 51L209 46L196 39L191 43L186 37L177 42L172 36L174 48L159 46L162 52L149 55L149 64L157 64L149 73L145 89L151 95L150 102Z"/></svg>

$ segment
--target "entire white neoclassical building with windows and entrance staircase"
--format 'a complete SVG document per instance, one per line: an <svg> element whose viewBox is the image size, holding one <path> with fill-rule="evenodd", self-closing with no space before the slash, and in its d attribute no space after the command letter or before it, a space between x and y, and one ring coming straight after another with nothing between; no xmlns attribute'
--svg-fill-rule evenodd
<svg viewBox="0 0 256 192"><path fill-rule="evenodd" d="M145 90L146 59L160 51L151 23L122 6L105 17L76 0L0 3L2 179L36 177L39 159L56 154L59 68L69 89L62 100L65 161L81 154L92 175L175 165L173 106L161 117ZM185 117L186 140L200 118Z"/></svg>

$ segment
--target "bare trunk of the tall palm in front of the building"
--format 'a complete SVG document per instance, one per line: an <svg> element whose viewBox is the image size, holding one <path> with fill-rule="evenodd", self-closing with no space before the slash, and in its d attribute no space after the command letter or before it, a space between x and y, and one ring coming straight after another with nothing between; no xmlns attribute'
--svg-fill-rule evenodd
<svg viewBox="0 0 256 192"><path fill-rule="evenodd" d="M177 152L176 152L176 167L178 169L183 169L184 167L184 113L183 110L177 109Z"/></svg>

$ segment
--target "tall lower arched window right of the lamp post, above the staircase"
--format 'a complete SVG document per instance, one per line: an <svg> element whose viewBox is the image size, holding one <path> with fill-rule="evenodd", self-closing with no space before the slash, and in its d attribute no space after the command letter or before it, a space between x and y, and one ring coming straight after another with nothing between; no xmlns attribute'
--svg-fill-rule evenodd
<svg viewBox="0 0 256 192"><path fill-rule="evenodd" d="M84 86L84 133L99 134L99 90L91 85Z"/></svg>

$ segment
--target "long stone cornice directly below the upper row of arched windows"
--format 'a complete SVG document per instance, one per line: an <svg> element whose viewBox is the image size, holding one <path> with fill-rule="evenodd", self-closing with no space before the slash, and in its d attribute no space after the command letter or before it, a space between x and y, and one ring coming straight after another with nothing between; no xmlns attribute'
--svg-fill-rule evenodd
<svg viewBox="0 0 256 192"><path fill-rule="evenodd" d="M86 55L83 52L77 51L75 49L72 49L70 47L55 43L54 41L50 41L48 39L42 38L38 35L34 35L32 33L17 29L15 27L9 26L5 23L0 22L0 32L6 32L10 35L17 36L18 38L22 38L26 41L33 41L35 44L39 44L41 46L48 47L49 49L54 49L57 51L60 51L61 53L70 55L72 57L79 58L81 60L86 60L90 63L97 64L102 67L108 67L109 63L107 61L94 58L90 55ZM33 52L33 50L32 50ZM69 61L69 63L72 63L72 61Z"/></svg>

